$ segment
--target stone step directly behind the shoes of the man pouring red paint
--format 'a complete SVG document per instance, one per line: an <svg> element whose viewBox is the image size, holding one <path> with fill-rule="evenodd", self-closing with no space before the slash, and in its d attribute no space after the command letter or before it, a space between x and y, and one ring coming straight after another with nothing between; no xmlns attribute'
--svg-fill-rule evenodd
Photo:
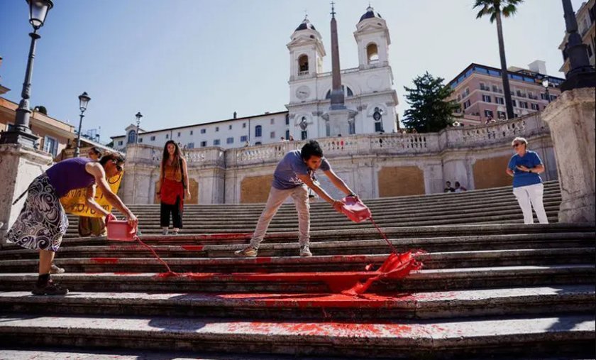
<svg viewBox="0 0 596 360"><path fill-rule="evenodd" d="M259 257L296 256L298 251L297 236L273 234L266 238L259 248ZM284 235L284 236L282 236ZM319 234L320 236L321 234ZM374 235L374 234L373 234ZM398 234L399 235L399 234ZM314 237L311 239L311 251L315 255L355 255L386 254L390 251L385 240L379 235L360 236L354 239L343 236ZM376 238L376 239L375 239ZM219 241L217 236L143 236L143 242L153 247L160 256L165 257L230 257L233 251L248 244L250 235L231 237ZM336 240L340 239L340 240ZM394 239L390 242L398 251L422 249L427 252L444 251L482 251L507 249L553 249L594 246L596 234L593 232L561 232L547 234L507 234L476 236L441 236ZM105 238L88 240L65 240L57 258L91 257L152 257L153 255L138 242L109 241ZM221 244L221 245L219 245ZM11 244L0 251L0 260L35 259L38 254Z"/></svg>

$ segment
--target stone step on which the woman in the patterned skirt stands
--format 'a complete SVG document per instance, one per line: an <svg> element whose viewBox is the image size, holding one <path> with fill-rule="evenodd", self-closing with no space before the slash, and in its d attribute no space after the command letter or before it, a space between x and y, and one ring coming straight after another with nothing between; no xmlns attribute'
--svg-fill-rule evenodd
<svg viewBox="0 0 596 360"><path fill-rule="evenodd" d="M593 312L594 285L492 288L426 293L0 293L4 314L236 317L277 320L447 319Z"/></svg>

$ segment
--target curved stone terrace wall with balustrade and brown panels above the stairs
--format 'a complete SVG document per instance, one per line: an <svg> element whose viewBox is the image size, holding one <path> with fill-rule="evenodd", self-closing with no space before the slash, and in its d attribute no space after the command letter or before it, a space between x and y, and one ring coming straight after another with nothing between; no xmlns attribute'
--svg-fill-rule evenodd
<svg viewBox="0 0 596 360"><path fill-rule="evenodd" d="M556 180L556 162L548 126L540 114L438 133L369 134L319 138L331 168L363 199L442 192L445 181L468 190L511 185L504 170L513 155L511 141L524 136L546 166L543 180ZM199 204L265 202L279 160L303 141L245 148L187 150L189 178L198 186ZM161 148L129 146L123 197L127 203L150 203ZM342 197L326 176L316 174L333 197ZM267 186L263 184L267 183ZM400 185L401 184L401 185Z"/></svg>

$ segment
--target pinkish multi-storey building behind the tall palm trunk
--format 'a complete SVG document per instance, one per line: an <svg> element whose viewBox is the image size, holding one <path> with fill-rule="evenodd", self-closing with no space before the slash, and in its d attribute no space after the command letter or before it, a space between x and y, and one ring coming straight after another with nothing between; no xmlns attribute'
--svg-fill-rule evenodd
<svg viewBox="0 0 596 360"><path fill-rule="evenodd" d="M509 67L508 72L516 117L543 110L561 94L558 87L564 79L546 75L546 67L541 60L529 64L529 69ZM472 63L448 86L453 89L450 99L460 104L456 113L460 124L486 124L507 118L500 69Z"/></svg>

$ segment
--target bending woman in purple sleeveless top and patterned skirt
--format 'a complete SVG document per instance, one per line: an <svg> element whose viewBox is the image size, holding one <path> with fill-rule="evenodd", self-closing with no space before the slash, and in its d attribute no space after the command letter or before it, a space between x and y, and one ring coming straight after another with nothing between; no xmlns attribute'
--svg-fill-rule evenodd
<svg viewBox="0 0 596 360"><path fill-rule="evenodd" d="M101 189L106 200L126 214L128 222L138 222L135 215L120 198L111 192L107 178L123 170L124 159L108 154L99 162L89 158L71 158L56 163L39 175L28 187L27 200L6 239L25 249L39 251L39 277L33 295L66 295L67 288L50 280L50 269L55 252L60 248L62 236L68 228L66 212L60 197L70 190L86 188L87 205L107 216L103 207L95 202L95 188Z"/></svg>

